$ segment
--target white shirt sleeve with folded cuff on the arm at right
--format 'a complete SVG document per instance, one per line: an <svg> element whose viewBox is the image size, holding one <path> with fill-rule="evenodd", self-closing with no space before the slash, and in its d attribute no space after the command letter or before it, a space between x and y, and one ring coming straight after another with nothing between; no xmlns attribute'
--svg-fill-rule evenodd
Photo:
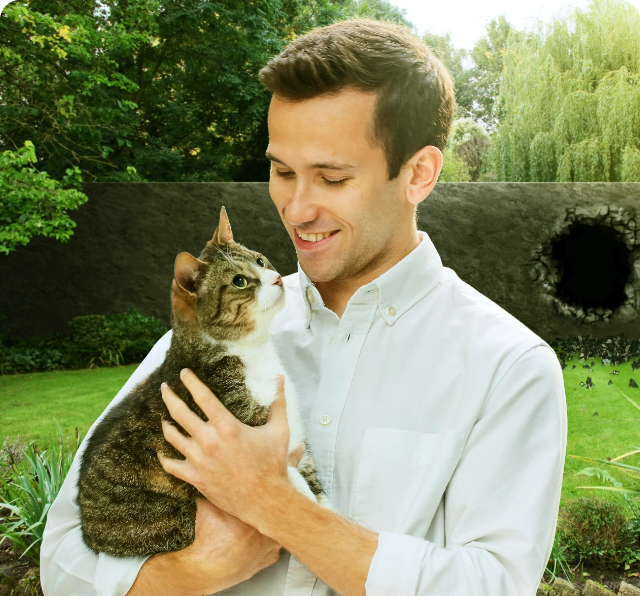
<svg viewBox="0 0 640 596"><path fill-rule="evenodd" d="M444 495L445 548L378 538L367 596L533 596L549 559L567 442L564 380L539 345L486 400Z"/></svg>

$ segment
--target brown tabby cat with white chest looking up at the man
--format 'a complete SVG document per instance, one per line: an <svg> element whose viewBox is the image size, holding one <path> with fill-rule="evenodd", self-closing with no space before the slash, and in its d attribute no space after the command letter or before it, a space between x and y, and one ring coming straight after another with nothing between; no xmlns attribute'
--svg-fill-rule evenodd
<svg viewBox="0 0 640 596"><path fill-rule="evenodd" d="M180 381L180 371L190 368L236 418L259 426L284 373L269 332L284 306L282 278L264 256L234 242L224 207L200 257L180 253L174 273L173 336L164 362L105 415L82 455L82 535L96 553L146 556L181 550L195 538L196 501L204 497L166 473L156 455L184 459L162 433L162 420L185 433L162 401L162 382L207 420ZM288 378L285 395L292 451L304 430ZM289 478L326 504L308 452L297 468L289 466Z"/></svg>

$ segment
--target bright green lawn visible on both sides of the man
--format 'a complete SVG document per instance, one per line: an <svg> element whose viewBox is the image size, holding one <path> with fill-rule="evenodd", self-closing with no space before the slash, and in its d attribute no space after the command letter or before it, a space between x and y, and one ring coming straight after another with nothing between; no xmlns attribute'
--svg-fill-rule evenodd
<svg viewBox="0 0 640 596"><path fill-rule="evenodd" d="M595 359L589 360L590 364ZM575 364L576 368L572 369ZM575 358L564 370L569 440L567 453L584 457L614 458L640 447L640 411L620 393L640 404L640 389L629 387L629 379L640 384L640 369L631 371L631 362L619 366L603 366L598 361L593 372L583 369ZM613 370L619 375L611 375ZM91 424L113 399L135 370L135 365L30 375L0 376L0 440L3 436L23 436L35 440L40 448L58 440L56 420L65 438L74 440L75 428L85 434ZM590 376L593 389L580 386ZM613 385L608 385L609 379ZM594 416L595 412L598 413ZM640 456L626 463L640 465ZM596 478L576 476L589 464L567 458L563 483L563 502L577 496L593 494L622 501L614 493L577 490L578 486L602 485ZM628 477L608 468L621 482ZM639 487L640 488L640 487Z"/></svg>

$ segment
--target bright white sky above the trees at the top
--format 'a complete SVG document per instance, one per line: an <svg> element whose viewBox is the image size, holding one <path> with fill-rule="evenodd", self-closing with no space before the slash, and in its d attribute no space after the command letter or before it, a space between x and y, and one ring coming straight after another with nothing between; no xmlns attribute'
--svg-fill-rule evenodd
<svg viewBox="0 0 640 596"><path fill-rule="evenodd" d="M418 28L418 33L431 31L451 34L453 45L471 49L485 34L485 25L492 18L504 15L516 28L533 25L536 19L548 22L567 8L586 8L589 0L391 0L406 9L406 17Z"/></svg>

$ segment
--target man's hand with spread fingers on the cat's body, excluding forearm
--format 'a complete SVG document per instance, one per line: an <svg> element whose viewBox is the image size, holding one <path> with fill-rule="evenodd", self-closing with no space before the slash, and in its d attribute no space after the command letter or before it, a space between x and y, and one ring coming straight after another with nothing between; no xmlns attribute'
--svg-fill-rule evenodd
<svg viewBox="0 0 640 596"><path fill-rule="evenodd" d="M165 438L186 459L158 453L162 467L195 486L224 511L255 526L267 512L265 497L291 489L284 379L280 379L278 398L271 406L267 423L250 427L235 418L192 371L185 369L180 377L208 422L163 384L162 399L171 417L189 436L172 424L163 423Z"/></svg>

